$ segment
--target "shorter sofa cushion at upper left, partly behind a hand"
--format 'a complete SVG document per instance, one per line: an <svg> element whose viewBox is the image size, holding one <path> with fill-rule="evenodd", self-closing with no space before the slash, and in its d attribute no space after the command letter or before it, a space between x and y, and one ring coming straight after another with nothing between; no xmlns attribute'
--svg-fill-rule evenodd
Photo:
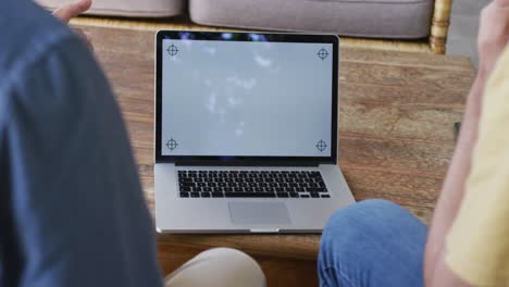
<svg viewBox="0 0 509 287"><path fill-rule="evenodd" d="M54 10L73 0L36 0L40 5ZM87 14L161 17L174 16L186 10L186 0L94 0Z"/></svg>

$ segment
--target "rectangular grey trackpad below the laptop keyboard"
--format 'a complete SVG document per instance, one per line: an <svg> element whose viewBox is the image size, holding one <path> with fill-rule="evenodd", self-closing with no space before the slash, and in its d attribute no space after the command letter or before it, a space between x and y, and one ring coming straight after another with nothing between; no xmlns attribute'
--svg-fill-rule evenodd
<svg viewBox="0 0 509 287"><path fill-rule="evenodd" d="M229 202L233 224L290 224L286 204L283 202Z"/></svg>

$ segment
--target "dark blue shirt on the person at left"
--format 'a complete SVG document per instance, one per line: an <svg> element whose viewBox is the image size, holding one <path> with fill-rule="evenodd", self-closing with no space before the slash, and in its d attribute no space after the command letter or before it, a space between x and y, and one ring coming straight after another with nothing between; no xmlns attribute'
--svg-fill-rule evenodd
<svg viewBox="0 0 509 287"><path fill-rule="evenodd" d="M111 88L28 0L0 3L0 286L162 286Z"/></svg>

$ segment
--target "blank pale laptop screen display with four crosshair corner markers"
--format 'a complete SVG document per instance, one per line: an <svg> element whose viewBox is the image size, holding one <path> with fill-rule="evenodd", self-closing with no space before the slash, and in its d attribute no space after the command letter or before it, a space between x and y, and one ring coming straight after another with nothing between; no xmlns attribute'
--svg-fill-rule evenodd
<svg viewBox="0 0 509 287"><path fill-rule="evenodd" d="M163 39L162 51L162 155L331 157L332 43Z"/></svg>

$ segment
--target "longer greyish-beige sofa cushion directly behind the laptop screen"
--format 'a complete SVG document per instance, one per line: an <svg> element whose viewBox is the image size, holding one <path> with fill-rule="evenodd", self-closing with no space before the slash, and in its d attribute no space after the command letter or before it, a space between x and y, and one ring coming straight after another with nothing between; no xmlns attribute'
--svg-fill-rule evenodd
<svg viewBox="0 0 509 287"><path fill-rule="evenodd" d="M199 24L345 36L429 36L432 0L189 0Z"/></svg>

